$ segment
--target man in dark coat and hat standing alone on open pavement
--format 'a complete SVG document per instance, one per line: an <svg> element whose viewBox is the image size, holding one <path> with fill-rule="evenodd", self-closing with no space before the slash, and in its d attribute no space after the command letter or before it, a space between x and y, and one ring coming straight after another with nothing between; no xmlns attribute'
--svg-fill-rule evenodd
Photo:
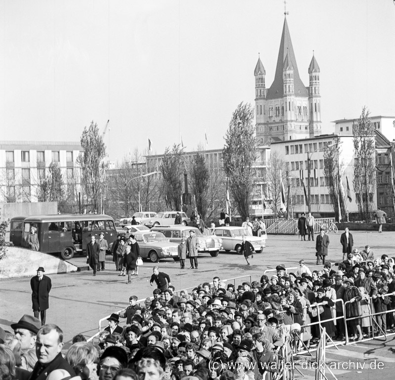
<svg viewBox="0 0 395 380"><path fill-rule="evenodd" d="M35 318L41 316L41 325L45 325L46 310L49 308L49 292L52 288L51 279L44 276L44 268L42 266L37 269L37 276L30 280L32 289L33 313Z"/></svg>

